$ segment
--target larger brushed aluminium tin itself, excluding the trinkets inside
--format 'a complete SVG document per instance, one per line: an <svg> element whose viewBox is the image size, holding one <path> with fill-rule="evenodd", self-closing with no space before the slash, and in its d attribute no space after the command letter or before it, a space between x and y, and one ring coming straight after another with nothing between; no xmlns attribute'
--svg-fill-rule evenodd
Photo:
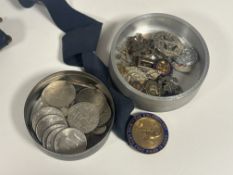
<svg viewBox="0 0 233 175"><path fill-rule="evenodd" d="M178 35L185 45L194 47L199 54L199 61L189 76L178 72L175 75L184 90L179 95L156 97L140 92L128 84L117 68L116 50L127 37L136 33L147 34L158 31ZM146 14L130 20L116 34L110 52L109 69L116 86L124 95L131 98L138 108L166 112L180 108L196 95L209 69L209 52L201 34L188 22L168 14Z"/></svg>

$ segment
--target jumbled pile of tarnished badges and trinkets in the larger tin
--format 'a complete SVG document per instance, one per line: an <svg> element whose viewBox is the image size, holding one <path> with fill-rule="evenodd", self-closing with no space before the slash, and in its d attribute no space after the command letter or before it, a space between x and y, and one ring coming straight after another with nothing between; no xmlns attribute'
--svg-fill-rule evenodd
<svg viewBox="0 0 233 175"><path fill-rule="evenodd" d="M128 37L116 58L119 72L132 87L152 96L172 96L183 92L174 72L188 76L198 53L177 35L160 31Z"/></svg>

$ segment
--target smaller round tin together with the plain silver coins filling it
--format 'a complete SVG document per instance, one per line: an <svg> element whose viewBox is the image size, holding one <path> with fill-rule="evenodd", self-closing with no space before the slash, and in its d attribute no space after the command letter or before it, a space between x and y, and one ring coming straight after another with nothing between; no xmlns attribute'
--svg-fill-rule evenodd
<svg viewBox="0 0 233 175"><path fill-rule="evenodd" d="M47 154L76 160L105 143L114 122L114 103L105 85L77 71L54 73L41 80L25 104L25 122Z"/></svg>

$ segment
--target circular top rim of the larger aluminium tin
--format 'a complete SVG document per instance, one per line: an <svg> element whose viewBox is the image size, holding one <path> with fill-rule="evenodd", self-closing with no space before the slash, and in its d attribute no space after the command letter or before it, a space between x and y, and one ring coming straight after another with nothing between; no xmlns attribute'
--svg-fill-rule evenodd
<svg viewBox="0 0 233 175"><path fill-rule="evenodd" d="M114 51L115 51L115 48L117 47L118 38L120 37L122 32L125 31L125 29L127 27L134 24L135 22L141 21L141 20L146 19L146 18L154 18L154 17L156 17L156 18L162 17L162 18L168 18L168 19L171 19L171 20L175 20L175 21L185 25L187 28L189 28L196 35L196 37L200 40L200 42L202 44L202 47L203 47L203 50L204 50L205 65L204 65L204 68L203 68L203 72L202 72L200 78L198 79L198 81L192 87L190 87L188 90L184 91L181 94L174 95L174 96L169 96L169 97L151 96L151 95L145 94L143 92L140 92L140 91L134 89L132 86L124 86L124 87L127 90L133 92L134 94L138 95L139 97L146 98L148 100L173 101L173 100L176 100L176 99L181 99L181 98L183 98L185 96L188 96L190 93L196 91L201 86L201 84L205 80L206 75L208 73L209 62L210 62L210 60L209 60L209 51L208 51L208 47L206 45L206 42L205 42L204 38L199 33L199 31L195 27L193 27L190 23L188 23L187 21L185 21L185 20L183 20L183 19L181 19L179 17L169 15L169 14L164 14L164 13L145 14L145 15L141 15L141 16L138 16L138 17L135 17L135 18L131 19L129 22L127 22L126 24L124 24L120 28L120 30L117 32L116 36L114 37L113 42L112 42L112 46L111 46L111 51L110 51L110 62L109 63L112 64L113 72L114 72L114 74L116 74L116 78L120 82L122 82L123 84L128 84L128 82L123 78L123 76L120 74L119 70L117 69L116 59L114 58Z"/></svg>

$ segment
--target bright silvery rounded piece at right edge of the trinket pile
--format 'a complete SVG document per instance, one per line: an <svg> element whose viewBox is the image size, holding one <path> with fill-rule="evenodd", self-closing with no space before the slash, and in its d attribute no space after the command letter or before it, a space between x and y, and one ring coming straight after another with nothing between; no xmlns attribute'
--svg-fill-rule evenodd
<svg viewBox="0 0 233 175"><path fill-rule="evenodd" d="M179 72L190 72L198 61L198 53L194 48L185 48L181 55L174 58L173 67Z"/></svg>

